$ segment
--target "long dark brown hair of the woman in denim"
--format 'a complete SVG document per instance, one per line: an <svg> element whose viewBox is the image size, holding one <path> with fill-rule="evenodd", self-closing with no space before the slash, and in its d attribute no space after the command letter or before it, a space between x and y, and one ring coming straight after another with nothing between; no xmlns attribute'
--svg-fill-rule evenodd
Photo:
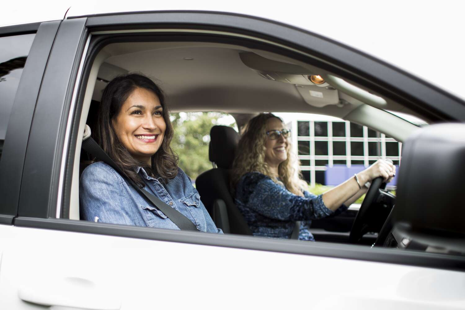
<svg viewBox="0 0 465 310"><path fill-rule="evenodd" d="M152 156L151 166L131 156L118 139L112 124L112 119L120 113L121 106L136 88L144 88L153 92L160 100L163 108L163 119L166 124L165 135L158 151ZM170 146L171 139L173 139L173 125L166 107L165 94L159 86L143 74L119 75L105 87L97 118L96 139L97 143L113 159L116 165L126 173L126 176L140 187L144 187L145 184L137 174L136 169L139 166L143 167L147 172L152 172L157 177L161 177L165 183L178 173L179 158Z"/></svg>

